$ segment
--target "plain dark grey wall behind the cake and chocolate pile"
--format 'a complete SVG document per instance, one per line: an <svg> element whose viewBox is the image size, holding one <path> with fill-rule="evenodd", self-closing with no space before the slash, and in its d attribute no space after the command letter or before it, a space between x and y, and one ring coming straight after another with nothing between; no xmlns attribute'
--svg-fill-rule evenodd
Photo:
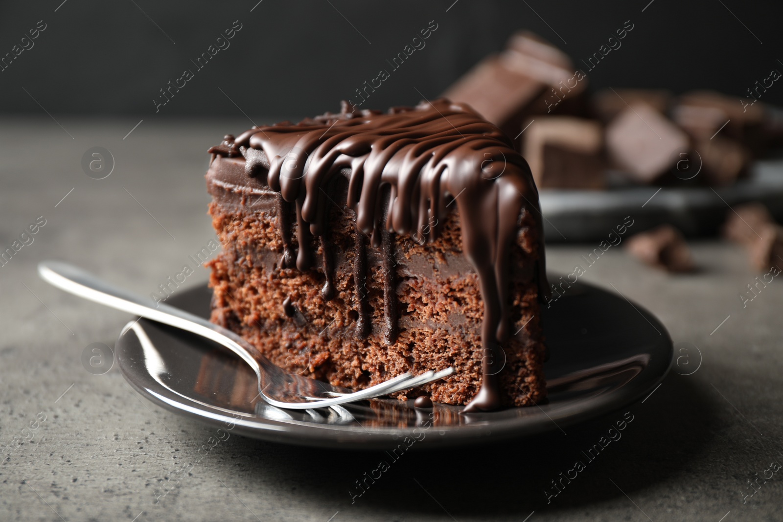
<svg viewBox="0 0 783 522"><path fill-rule="evenodd" d="M241 117L241 110L261 124L337 110L430 20L438 30L427 46L364 107L437 96L523 27L579 65L631 20L622 47L590 73L594 88L716 88L741 96L771 69L783 70L781 2L263 0L251 12L257 2L2 2L0 56L38 20L48 27L0 72L0 113L45 116L45 107L55 117L164 118ZM234 20L243 28L229 49L156 113L159 89L192 69L190 60ZM783 102L783 85L773 85L763 101Z"/></svg>

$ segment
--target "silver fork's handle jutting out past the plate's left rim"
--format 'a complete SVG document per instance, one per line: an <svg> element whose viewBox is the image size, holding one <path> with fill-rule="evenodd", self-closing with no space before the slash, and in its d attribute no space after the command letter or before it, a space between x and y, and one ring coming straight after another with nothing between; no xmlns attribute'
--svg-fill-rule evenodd
<svg viewBox="0 0 783 522"><path fill-rule="evenodd" d="M155 304L151 299L106 283L81 268L60 261L44 261L38 265L38 275L52 286L78 297L214 340L239 355L244 362L251 365L259 377L261 376L259 362L251 356L251 353L261 358L262 364L265 365L267 362L263 355L258 354L254 347L231 330L169 304ZM248 353L248 350L251 352ZM271 365L271 362L269 364Z"/></svg>

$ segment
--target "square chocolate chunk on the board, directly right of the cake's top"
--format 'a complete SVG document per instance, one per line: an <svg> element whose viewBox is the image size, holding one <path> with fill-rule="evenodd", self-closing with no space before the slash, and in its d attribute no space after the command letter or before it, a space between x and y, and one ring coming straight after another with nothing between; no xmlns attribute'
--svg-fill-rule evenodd
<svg viewBox="0 0 783 522"><path fill-rule="evenodd" d="M604 138L597 121L537 117L522 134L522 151L539 189L604 188Z"/></svg>

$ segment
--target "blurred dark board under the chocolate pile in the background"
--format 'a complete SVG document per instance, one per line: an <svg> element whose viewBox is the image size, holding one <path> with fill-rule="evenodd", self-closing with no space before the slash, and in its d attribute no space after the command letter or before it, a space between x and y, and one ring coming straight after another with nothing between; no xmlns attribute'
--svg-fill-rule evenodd
<svg viewBox="0 0 783 522"><path fill-rule="evenodd" d="M660 192L656 193L660 189ZM783 160L757 161L751 175L720 189L651 185L607 190L541 189L541 211L547 242L607 239L626 216L632 234L662 223L686 236L714 236L726 220L729 205L760 201L783 220Z"/></svg>

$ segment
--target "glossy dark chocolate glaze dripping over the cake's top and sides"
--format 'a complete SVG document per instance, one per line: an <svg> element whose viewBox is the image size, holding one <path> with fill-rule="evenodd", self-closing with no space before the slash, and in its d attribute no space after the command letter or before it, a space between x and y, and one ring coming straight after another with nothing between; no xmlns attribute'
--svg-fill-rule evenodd
<svg viewBox="0 0 783 522"><path fill-rule="evenodd" d="M538 243L539 297L547 291L538 193L529 167L511 140L464 104L438 99L388 114L326 113L299 124L254 127L233 139L227 135L210 152L245 158L251 177L280 193L283 268L292 268L291 208L298 225L296 267L312 265L313 238L319 237L327 282L323 297L334 296L334 253L327 236L333 200L330 183L348 179L347 206L356 214L354 283L358 297L356 336L370 335L371 308L366 289L368 243L381 249L384 278L384 340L397 338L395 235L417 243L438 237L438 221L454 200L459 209L464 254L478 273L484 302L482 387L466 412L500 406L499 375L492 362L500 343L511 336L511 244L521 226ZM523 225L524 221L524 225ZM292 308L290 299L287 306Z"/></svg>

